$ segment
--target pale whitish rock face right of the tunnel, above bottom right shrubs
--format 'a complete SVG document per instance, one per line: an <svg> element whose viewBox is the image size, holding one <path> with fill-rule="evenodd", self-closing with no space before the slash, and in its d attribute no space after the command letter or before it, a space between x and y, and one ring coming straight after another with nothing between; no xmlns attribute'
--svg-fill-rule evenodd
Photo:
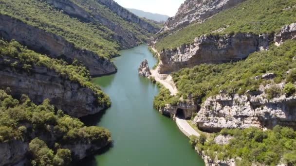
<svg viewBox="0 0 296 166"><path fill-rule="evenodd" d="M281 89L284 84L277 84ZM296 97L281 95L266 99L264 90L271 85L260 86L259 92L249 95L228 96L220 94L208 98L194 118L194 123L204 131L219 132L222 128L249 128L283 125L296 126Z"/></svg>

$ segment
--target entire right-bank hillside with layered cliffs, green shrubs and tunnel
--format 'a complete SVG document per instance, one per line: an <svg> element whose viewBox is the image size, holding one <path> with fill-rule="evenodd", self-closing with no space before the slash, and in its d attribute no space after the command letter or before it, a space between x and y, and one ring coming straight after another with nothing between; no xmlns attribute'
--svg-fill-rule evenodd
<svg viewBox="0 0 296 166"><path fill-rule="evenodd" d="M190 138L206 166L296 164L295 3L186 0L151 42L178 91L154 107L212 133Z"/></svg>

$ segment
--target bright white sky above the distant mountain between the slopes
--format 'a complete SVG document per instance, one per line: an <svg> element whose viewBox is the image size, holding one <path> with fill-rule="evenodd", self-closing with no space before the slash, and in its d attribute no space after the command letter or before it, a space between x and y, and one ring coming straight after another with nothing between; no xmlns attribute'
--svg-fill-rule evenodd
<svg viewBox="0 0 296 166"><path fill-rule="evenodd" d="M115 0L125 8L143 10L145 12L175 16L185 0Z"/></svg>

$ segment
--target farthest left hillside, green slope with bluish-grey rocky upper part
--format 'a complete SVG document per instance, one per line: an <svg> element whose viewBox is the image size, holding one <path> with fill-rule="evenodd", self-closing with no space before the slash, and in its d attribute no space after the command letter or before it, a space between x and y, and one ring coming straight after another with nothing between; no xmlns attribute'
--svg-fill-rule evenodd
<svg viewBox="0 0 296 166"><path fill-rule="evenodd" d="M111 3L104 0L0 2L1 15L17 18L28 25L54 33L73 43L76 48L90 50L107 58L118 55L120 49L145 42L152 33L159 30L112 0ZM114 8L121 13L115 13Z"/></svg>

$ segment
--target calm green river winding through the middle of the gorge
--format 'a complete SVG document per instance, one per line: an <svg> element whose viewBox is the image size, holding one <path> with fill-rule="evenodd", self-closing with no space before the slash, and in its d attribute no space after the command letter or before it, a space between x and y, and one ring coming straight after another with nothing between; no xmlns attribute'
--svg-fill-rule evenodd
<svg viewBox="0 0 296 166"><path fill-rule="evenodd" d="M147 45L120 51L113 60L114 75L95 78L112 101L103 114L84 121L112 133L113 145L97 156L82 161L83 166L204 166L203 159L189 145L176 123L153 109L158 87L138 75L144 60L152 67L156 58Z"/></svg>

